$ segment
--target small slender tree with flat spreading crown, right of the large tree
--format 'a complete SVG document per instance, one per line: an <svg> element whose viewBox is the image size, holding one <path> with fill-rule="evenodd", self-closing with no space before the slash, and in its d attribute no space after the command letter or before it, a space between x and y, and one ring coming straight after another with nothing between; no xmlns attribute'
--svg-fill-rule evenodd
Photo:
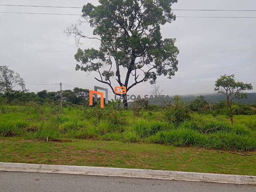
<svg viewBox="0 0 256 192"><path fill-rule="evenodd" d="M215 91L222 93L226 96L226 101L228 104L230 121L233 124L233 114L232 114L232 102L234 98L242 99L246 98L247 94L243 93L244 90L252 90L252 84L246 84L243 82L236 82L234 79L235 75L223 75L218 78L215 82Z"/></svg>

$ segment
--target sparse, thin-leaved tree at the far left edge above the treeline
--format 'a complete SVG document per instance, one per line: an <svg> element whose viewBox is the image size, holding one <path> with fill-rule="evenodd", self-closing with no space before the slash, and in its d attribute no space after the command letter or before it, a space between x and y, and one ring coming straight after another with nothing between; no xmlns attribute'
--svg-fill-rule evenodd
<svg viewBox="0 0 256 192"><path fill-rule="evenodd" d="M25 82L20 74L10 70L8 66L0 66L0 94L10 98L12 90L20 86L23 92L26 91Z"/></svg>

